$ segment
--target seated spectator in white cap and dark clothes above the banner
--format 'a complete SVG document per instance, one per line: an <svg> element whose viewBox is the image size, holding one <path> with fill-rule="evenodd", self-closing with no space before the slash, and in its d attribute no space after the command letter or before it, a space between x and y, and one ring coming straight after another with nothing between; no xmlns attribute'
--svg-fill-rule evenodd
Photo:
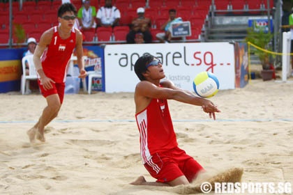
<svg viewBox="0 0 293 195"><path fill-rule="evenodd" d="M131 22L131 30L126 36L127 43L136 43L135 36L137 33L142 33L144 42L150 43L152 40L150 28L151 19L144 17L144 8L137 8L137 17Z"/></svg>

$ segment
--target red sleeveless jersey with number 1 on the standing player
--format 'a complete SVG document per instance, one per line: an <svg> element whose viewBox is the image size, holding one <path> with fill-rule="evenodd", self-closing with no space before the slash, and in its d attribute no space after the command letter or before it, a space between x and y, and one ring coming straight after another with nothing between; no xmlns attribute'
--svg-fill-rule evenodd
<svg viewBox="0 0 293 195"><path fill-rule="evenodd" d="M57 26L53 28L52 40L45 49L40 61L45 75L56 83L62 83L65 82L66 68L76 46L75 28L72 29L70 37L67 39L61 39Z"/></svg>

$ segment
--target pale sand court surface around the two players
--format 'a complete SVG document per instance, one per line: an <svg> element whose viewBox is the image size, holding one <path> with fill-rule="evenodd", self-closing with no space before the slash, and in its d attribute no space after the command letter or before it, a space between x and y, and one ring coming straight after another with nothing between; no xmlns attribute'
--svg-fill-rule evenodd
<svg viewBox="0 0 293 195"><path fill-rule="evenodd" d="M220 91L211 98L222 111L216 121L170 100L179 147L207 171L237 166L243 182L293 185L292 95L293 83L260 79ZM128 185L141 175L154 181L140 159L133 93L66 95L46 143L33 145L26 132L45 99L7 93L0 100L0 194L177 194L178 187Z"/></svg>

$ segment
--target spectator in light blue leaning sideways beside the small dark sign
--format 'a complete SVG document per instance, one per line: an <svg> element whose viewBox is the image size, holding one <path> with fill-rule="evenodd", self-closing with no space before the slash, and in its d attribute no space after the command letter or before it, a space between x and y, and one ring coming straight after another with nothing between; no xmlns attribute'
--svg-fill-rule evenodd
<svg viewBox="0 0 293 195"><path fill-rule="evenodd" d="M156 34L156 37L160 40L160 42L170 42L170 40L172 39L171 31L170 31L171 24L174 22L181 22L181 21L182 21L181 17L176 17L176 10L170 9L169 19L162 26L160 26L160 29L165 32Z"/></svg>

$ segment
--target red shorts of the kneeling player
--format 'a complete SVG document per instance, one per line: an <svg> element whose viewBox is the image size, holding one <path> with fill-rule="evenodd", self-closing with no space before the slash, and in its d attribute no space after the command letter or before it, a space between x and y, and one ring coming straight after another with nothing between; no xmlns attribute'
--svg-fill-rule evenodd
<svg viewBox="0 0 293 195"><path fill-rule="evenodd" d="M178 147L154 154L144 167L157 182L170 182L180 176L186 176L192 182L197 173L204 170L193 157Z"/></svg>

